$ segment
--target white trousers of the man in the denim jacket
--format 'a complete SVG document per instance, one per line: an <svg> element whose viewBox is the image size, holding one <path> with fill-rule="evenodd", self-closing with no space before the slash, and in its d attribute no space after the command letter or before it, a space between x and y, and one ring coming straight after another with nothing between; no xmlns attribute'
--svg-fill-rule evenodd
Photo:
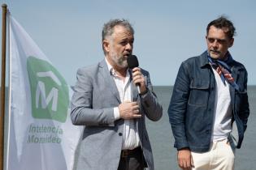
<svg viewBox="0 0 256 170"><path fill-rule="evenodd" d="M234 150L233 150L234 151ZM193 170L233 170L235 155L228 140L211 142L210 151L192 153Z"/></svg>

